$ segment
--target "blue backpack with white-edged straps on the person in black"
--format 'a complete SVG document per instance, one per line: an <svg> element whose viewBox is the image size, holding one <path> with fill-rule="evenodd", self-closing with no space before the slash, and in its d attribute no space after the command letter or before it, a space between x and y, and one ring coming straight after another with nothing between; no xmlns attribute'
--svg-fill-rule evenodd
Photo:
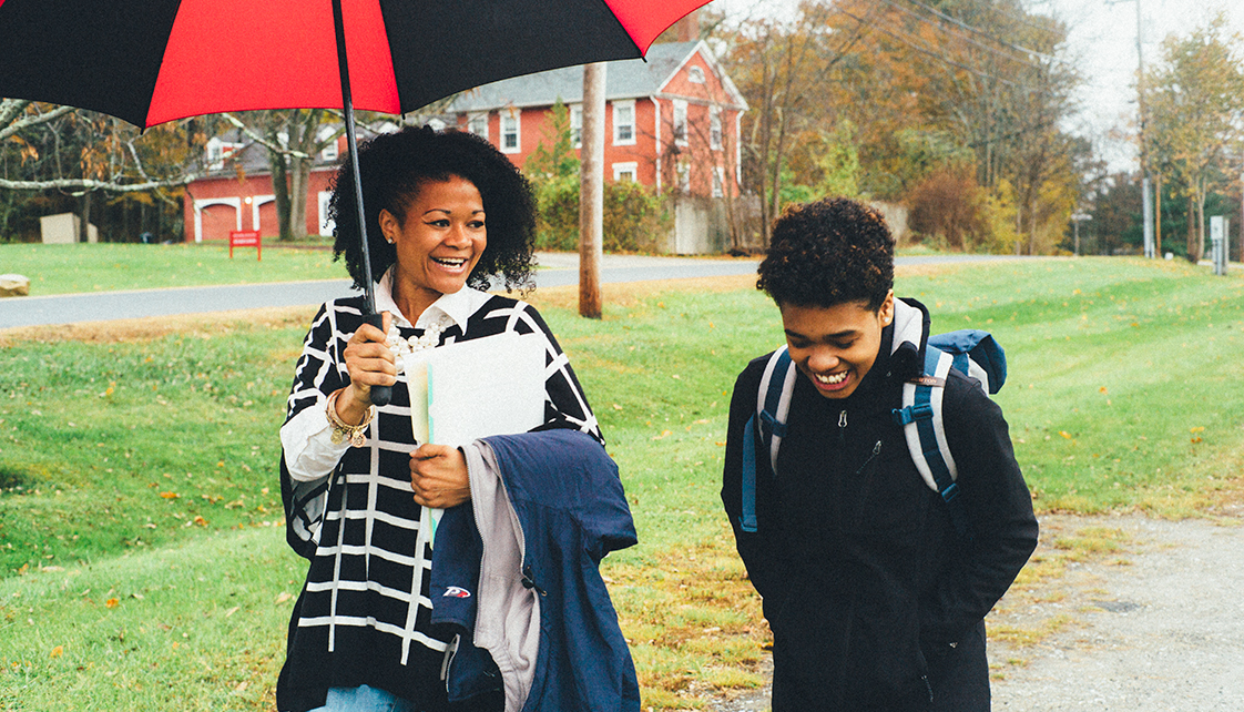
<svg viewBox="0 0 1244 712"><path fill-rule="evenodd" d="M924 332L924 314L902 300L894 300L894 341L919 345ZM903 426L907 449L921 477L947 503L955 532L970 539L963 502L958 498L958 468L945 441L942 395L945 378L955 368L978 381L986 393L996 393L1006 381L1006 354L993 335L977 329L960 329L928 337L924 365L919 376L903 383L903 407L894 408L894 422ZM756 412L748 419L743 434L743 513L739 527L756 532L756 438L778 469L778 449L786 436L786 416L795 390L797 371L791 368L786 346L773 352L765 363L756 395Z"/></svg>

